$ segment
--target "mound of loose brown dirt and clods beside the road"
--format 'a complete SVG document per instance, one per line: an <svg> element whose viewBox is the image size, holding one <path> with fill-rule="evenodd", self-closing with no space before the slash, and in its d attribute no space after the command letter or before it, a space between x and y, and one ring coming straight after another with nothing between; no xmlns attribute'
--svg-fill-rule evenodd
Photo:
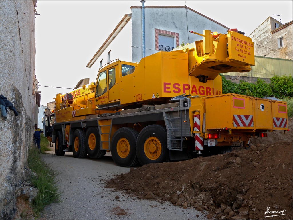
<svg viewBox="0 0 293 220"><path fill-rule="evenodd" d="M292 119L289 129L254 138L249 149L131 168L106 187L206 210L209 219L293 219Z"/></svg>

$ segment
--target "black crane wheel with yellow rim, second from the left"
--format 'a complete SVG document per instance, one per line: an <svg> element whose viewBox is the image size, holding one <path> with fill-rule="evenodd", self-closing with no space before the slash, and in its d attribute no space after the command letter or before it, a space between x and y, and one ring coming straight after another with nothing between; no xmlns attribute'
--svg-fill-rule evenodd
<svg viewBox="0 0 293 220"><path fill-rule="evenodd" d="M75 158L86 157L86 147L84 145L84 132L80 129L76 129L73 133L73 146L72 153Z"/></svg>

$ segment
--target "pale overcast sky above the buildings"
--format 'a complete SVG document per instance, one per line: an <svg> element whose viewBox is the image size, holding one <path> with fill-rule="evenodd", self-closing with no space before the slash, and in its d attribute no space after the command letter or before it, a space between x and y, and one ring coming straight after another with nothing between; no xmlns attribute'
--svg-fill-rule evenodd
<svg viewBox="0 0 293 220"><path fill-rule="evenodd" d="M248 36L269 16L283 24L292 21L293 1L152 1L145 6L188 6ZM96 80L99 63L86 67L106 38L135 1L45 1L38 0L35 15L35 75L41 104L57 93L70 92L80 79ZM276 16L280 15L280 16ZM192 30L192 27L190 27ZM217 31L217 30L211 30ZM123 59L123 57L117 57ZM129 60L131 62L131 60ZM44 87L46 86L46 87Z"/></svg>

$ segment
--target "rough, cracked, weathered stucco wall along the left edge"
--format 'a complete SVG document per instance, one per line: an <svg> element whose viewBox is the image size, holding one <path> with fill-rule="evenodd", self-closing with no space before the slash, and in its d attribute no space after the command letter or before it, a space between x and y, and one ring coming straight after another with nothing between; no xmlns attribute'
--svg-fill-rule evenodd
<svg viewBox="0 0 293 220"><path fill-rule="evenodd" d="M28 146L33 143L35 27L33 1L0 1L1 95L18 111L1 120L1 219L12 219L17 191L25 181Z"/></svg>

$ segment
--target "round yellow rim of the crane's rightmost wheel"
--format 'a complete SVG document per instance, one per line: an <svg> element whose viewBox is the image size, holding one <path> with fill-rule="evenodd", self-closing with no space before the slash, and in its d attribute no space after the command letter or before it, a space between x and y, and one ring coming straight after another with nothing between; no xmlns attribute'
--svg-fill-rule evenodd
<svg viewBox="0 0 293 220"><path fill-rule="evenodd" d="M162 145L158 138L149 137L144 142L144 153L150 160L156 160L160 157L162 152Z"/></svg>

